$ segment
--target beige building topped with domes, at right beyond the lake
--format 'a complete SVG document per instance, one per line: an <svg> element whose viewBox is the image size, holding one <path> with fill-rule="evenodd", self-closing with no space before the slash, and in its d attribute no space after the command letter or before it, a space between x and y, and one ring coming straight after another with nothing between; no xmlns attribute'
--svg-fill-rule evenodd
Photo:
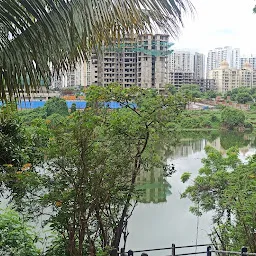
<svg viewBox="0 0 256 256"><path fill-rule="evenodd" d="M217 90L221 93L238 87L256 87L256 70L249 63L245 63L242 69L236 69L223 61L218 69L209 71L208 78L215 80Z"/></svg>

